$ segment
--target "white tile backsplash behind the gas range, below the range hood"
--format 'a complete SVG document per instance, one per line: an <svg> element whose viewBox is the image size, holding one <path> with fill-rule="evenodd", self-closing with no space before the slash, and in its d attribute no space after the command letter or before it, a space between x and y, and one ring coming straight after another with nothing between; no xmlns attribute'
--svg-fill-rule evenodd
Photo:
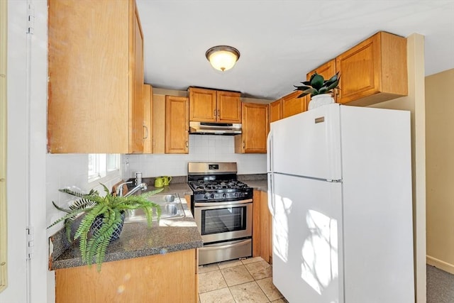
<svg viewBox="0 0 454 303"><path fill-rule="evenodd" d="M237 162L238 175L267 172L266 154L237 154L233 136L189 135L189 154L123 155L123 179L187 175L187 162Z"/></svg>

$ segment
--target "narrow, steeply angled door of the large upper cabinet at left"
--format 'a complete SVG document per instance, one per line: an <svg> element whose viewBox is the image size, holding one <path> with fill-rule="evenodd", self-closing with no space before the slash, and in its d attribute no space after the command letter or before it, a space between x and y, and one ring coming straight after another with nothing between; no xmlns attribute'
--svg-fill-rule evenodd
<svg viewBox="0 0 454 303"><path fill-rule="evenodd" d="M133 15L133 65L132 68L134 75L133 77L133 95L131 96L131 105L132 109L130 113L132 116L129 117L130 127L129 127L129 137L131 138L130 143L130 153L143 153L143 138L144 138L144 128L143 128L143 108L144 108L144 99L142 95L143 91L143 33L142 28L140 28L140 21L138 16L137 8L134 6L134 15Z"/></svg>

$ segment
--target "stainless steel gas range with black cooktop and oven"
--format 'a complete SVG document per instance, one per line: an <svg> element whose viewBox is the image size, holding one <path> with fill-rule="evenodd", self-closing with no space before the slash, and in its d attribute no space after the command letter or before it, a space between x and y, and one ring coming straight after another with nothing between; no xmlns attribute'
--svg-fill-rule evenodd
<svg viewBox="0 0 454 303"><path fill-rule="evenodd" d="M188 163L191 210L204 241L199 265L252 255L253 188L236 173L236 162Z"/></svg>

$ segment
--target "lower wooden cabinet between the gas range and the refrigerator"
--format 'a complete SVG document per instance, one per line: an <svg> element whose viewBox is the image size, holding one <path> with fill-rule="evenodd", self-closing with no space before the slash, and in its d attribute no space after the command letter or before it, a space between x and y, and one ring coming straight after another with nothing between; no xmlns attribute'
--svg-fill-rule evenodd
<svg viewBox="0 0 454 303"><path fill-rule="evenodd" d="M259 190L254 190L253 197L253 257L262 257L272 264L272 217L268 194Z"/></svg>

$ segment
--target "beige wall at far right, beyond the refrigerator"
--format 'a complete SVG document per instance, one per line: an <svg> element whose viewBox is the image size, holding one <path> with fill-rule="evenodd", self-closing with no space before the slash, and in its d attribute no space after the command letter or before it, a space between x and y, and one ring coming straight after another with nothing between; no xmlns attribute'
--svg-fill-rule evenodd
<svg viewBox="0 0 454 303"><path fill-rule="evenodd" d="M426 77L427 263L454 274L454 69Z"/></svg>

